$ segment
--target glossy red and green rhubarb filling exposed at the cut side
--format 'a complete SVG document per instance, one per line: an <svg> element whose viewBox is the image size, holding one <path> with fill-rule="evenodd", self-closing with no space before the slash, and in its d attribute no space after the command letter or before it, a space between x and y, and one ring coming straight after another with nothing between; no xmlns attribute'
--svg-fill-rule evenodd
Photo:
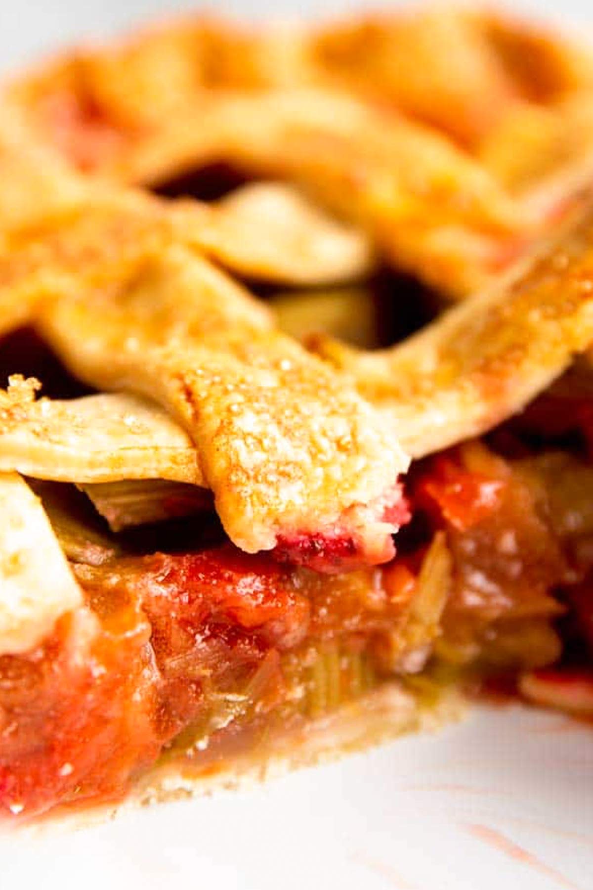
<svg viewBox="0 0 593 890"><path fill-rule="evenodd" d="M171 758L212 771L420 672L518 678L528 698L593 714L593 437L578 406L560 424L550 400L489 446L414 464L396 556L348 573L244 554L204 514L91 531L72 487L34 483L85 603L0 658L4 811L120 799ZM179 522L202 529L197 549Z"/></svg>

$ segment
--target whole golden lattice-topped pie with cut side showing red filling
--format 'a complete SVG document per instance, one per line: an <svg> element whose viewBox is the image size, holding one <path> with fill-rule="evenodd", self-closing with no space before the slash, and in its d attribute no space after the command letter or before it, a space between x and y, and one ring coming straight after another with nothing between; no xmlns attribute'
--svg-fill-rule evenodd
<svg viewBox="0 0 593 890"><path fill-rule="evenodd" d="M592 64L439 10L4 86L6 816L593 716Z"/></svg>

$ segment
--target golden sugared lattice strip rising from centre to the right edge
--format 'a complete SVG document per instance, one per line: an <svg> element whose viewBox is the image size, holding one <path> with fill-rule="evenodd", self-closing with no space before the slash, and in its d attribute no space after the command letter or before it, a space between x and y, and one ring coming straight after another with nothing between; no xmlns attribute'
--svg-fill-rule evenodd
<svg viewBox="0 0 593 890"><path fill-rule="evenodd" d="M516 271L400 346L317 350L397 423L421 457L479 435L523 409L593 342L590 192L555 239Z"/></svg>

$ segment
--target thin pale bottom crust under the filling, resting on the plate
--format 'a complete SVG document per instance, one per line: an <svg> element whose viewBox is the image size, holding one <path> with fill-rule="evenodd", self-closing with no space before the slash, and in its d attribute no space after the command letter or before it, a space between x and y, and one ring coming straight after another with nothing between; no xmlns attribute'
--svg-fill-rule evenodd
<svg viewBox="0 0 593 890"><path fill-rule="evenodd" d="M467 702L459 689L444 687L437 700L426 700L399 681L381 684L331 714L309 720L298 730L276 732L265 745L216 764L196 767L183 752L164 765L156 764L132 787L124 800L98 805L62 805L48 815L9 829L31 835L85 829L153 804L249 790L301 767L331 763L395 740L407 733L437 732L461 720ZM397 752L394 752L397 756Z"/></svg>

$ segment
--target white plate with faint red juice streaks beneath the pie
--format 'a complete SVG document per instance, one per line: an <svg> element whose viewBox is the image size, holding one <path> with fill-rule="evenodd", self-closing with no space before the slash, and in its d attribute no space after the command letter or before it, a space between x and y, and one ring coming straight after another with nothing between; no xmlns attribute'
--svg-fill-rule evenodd
<svg viewBox="0 0 593 890"><path fill-rule="evenodd" d="M521 706L248 791L0 837L0 887L591 890L593 729Z"/></svg>

